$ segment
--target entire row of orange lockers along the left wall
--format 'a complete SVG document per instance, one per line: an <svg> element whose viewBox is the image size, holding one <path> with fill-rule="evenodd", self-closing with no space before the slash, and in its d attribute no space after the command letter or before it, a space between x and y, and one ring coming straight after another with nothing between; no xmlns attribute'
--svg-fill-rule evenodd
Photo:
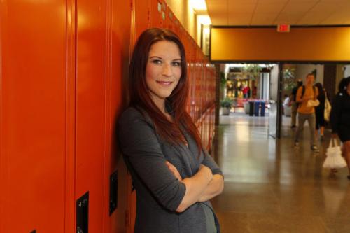
<svg viewBox="0 0 350 233"><path fill-rule="evenodd" d="M179 34L204 146L214 71L164 0L0 4L0 232L134 232L115 137L133 43L149 27Z"/></svg>

